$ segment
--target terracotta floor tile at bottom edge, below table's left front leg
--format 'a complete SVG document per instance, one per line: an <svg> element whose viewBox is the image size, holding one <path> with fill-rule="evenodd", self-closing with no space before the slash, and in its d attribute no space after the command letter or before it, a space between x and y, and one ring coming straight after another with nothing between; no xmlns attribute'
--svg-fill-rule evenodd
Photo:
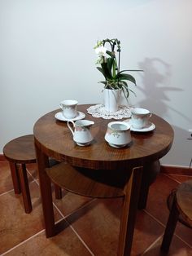
<svg viewBox="0 0 192 256"><path fill-rule="evenodd" d="M46 239L45 232L42 232L7 254L7 256L11 255L89 256L92 254L72 232L71 227L68 227L59 235L49 239Z"/></svg>

